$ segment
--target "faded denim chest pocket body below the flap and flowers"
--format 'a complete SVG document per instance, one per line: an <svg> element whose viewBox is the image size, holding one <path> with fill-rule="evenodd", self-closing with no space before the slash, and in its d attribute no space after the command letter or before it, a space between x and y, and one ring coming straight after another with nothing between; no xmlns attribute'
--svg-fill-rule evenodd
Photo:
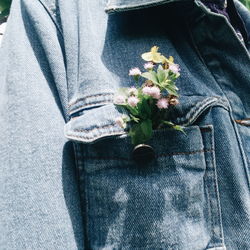
<svg viewBox="0 0 250 250"><path fill-rule="evenodd" d="M154 131L144 165L126 135L75 144L89 248L225 249L213 126L184 131Z"/></svg>

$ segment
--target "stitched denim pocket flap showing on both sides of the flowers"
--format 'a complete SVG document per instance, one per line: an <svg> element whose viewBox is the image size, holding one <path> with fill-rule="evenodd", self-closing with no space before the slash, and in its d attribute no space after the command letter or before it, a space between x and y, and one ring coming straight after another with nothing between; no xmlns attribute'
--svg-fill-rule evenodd
<svg viewBox="0 0 250 250"><path fill-rule="evenodd" d="M189 126L212 106L228 109L227 101L221 97L181 96L180 104L170 113L171 121ZM86 109L65 125L65 136L70 140L92 143L105 137L125 134L115 123L115 119L120 116L121 113L113 104Z"/></svg>

